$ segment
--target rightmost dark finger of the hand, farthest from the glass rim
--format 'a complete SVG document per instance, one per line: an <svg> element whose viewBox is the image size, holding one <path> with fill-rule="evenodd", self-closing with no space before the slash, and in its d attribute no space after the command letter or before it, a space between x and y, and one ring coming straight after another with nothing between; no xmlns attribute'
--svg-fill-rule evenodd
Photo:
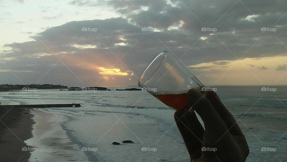
<svg viewBox="0 0 287 162"><path fill-rule="evenodd" d="M213 91L207 91L205 97L210 101L218 115L225 122L229 132L232 135L243 135L236 120L233 118L225 105L221 102L217 94Z"/></svg>

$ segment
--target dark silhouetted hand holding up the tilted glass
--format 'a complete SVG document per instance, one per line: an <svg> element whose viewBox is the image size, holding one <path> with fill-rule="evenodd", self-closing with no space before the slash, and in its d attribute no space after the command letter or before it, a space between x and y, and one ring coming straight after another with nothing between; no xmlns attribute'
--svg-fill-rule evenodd
<svg viewBox="0 0 287 162"><path fill-rule="evenodd" d="M215 92L203 96L191 89L187 94L189 105L204 122L201 126L194 111L176 111L175 122L184 139L191 162L242 162L249 148L245 136L228 109Z"/></svg>

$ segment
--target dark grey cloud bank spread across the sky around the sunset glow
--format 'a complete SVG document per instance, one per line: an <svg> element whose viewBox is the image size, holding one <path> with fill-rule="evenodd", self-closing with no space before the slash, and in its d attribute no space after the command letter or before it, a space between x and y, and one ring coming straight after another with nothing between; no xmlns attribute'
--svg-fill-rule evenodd
<svg viewBox="0 0 287 162"><path fill-rule="evenodd" d="M103 3L70 2L79 7ZM6 64L11 69L33 71L32 79L37 80L62 57L46 76L53 76L56 82L59 77L72 77L82 84L74 74L84 78L90 73L90 79L97 80L101 77L97 67L131 70L139 77L147 63L164 50L182 57L187 66L286 55L287 16L283 15L287 1L112 0L106 5L123 17L67 22L32 36L33 41L6 44L12 50L3 58L14 58ZM286 65L277 70L284 68ZM53 77L48 79L53 81Z"/></svg>

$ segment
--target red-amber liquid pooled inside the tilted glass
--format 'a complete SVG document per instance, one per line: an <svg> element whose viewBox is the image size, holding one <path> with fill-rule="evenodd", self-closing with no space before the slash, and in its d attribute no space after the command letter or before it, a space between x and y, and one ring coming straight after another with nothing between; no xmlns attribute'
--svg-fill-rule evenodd
<svg viewBox="0 0 287 162"><path fill-rule="evenodd" d="M188 104L187 93L179 93L179 94L155 94L156 98L158 98L165 105L174 108L175 110L182 110Z"/></svg>

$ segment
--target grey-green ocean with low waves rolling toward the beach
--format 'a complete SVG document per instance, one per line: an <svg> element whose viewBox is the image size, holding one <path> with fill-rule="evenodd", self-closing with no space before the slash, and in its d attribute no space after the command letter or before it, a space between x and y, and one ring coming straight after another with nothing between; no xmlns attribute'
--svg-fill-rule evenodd
<svg viewBox="0 0 287 162"><path fill-rule="evenodd" d="M235 120L238 120L250 148L248 162L287 161L287 86L209 87L216 88L222 102ZM262 87L265 87L266 91L262 91ZM190 161L174 121L175 110L167 108L146 91L115 91L116 88L126 87L108 88L112 91L4 92L1 93L1 101L19 104L82 105L80 108L37 110L49 114L46 118L56 116L56 120L61 119L51 121L59 123L61 130L52 134L46 133L49 138L45 138L46 134L35 135L37 129L42 129L35 124L32 132L34 137L25 141L30 146L38 147L37 152L31 152L30 161L34 161L35 157L45 158L45 154L57 154L61 157L61 150L47 151L59 149L56 148L57 145L52 145L53 139L57 139L56 136L68 137L68 143L73 149L65 145L62 150L65 155L69 155L71 161ZM41 117L36 115L35 120L40 121ZM123 140L132 140L134 143L123 144ZM113 142L122 145L112 145Z"/></svg>

